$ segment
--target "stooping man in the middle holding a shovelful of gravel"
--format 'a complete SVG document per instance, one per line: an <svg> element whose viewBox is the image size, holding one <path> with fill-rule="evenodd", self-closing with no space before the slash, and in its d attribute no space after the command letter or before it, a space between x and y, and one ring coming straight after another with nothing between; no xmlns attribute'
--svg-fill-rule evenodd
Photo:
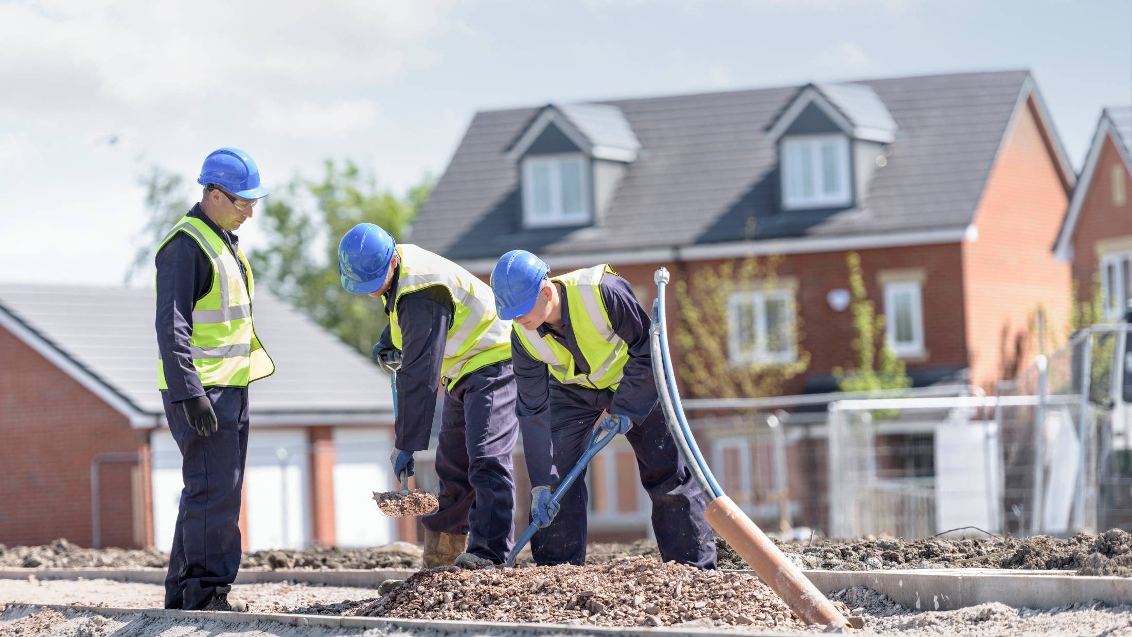
<svg viewBox="0 0 1132 637"><path fill-rule="evenodd" d="M371 223L342 238L338 270L342 287L384 299L389 317L374 352L401 361L391 457L398 480L413 475L413 451L428 449L444 382L439 507L421 518L424 566L503 563L514 535L511 453L518 438L511 322L496 316L483 282Z"/></svg>

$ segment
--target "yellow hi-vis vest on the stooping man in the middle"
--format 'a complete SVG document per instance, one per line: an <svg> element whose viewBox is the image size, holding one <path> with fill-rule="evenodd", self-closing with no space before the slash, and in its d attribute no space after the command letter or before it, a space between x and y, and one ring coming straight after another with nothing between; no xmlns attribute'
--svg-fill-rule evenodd
<svg viewBox="0 0 1132 637"><path fill-rule="evenodd" d="M452 327L444 344L440 377L452 388L464 376L511 359L511 321L496 315L491 286L458 265L411 243L396 247L401 276L393 296L389 336L401 350L397 303L402 294L441 285L452 296Z"/></svg>

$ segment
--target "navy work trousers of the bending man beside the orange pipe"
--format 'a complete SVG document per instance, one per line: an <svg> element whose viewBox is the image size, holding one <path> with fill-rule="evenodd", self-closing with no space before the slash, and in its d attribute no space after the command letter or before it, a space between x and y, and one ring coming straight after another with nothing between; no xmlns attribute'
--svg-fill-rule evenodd
<svg viewBox="0 0 1132 637"><path fill-rule="evenodd" d="M566 477L585 453L593 428L612 398L611 389L551 384L550 439L560 477ZM684 465L660 406L644 422L634 423L625 438L636 454L641 484L652 500L652 528L661 561L715 568L715 536L704 519L706 499ZM535 563L585 563L589 501L583 472L561 499L554 522L531 537Z"/></svg>

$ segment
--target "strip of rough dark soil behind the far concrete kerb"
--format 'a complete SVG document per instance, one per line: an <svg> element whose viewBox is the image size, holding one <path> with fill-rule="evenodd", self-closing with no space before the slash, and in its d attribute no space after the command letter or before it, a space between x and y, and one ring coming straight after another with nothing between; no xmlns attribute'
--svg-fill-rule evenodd
<svg viewBox="0 0 1132 637"><path fill-rule="evenodd" d="M1078 534L1062 540L1048 535L1034 537L989 536L971 531L959 537L857 539L851 541L813 537L803 542L781 542L779 546L799 567L823 570L873 570L893 568L1010 568L1067 570L1078 575L1132 576L1132 534L1112 530L1099 535ZM720 568L748 568L722 540L717 541ZM529 561L529 552L520 562ZM590 544L588 565L606 563L624 557L660 559L655 542L638 540L631 544ZM0 544L0 567L108 567L164 568L169 557L153 549L83 549L57 540L43 546ZM246 553L245 568L420 568L421 550L405 542L369 549L315 548L305 551L258 551Z"/></svg>

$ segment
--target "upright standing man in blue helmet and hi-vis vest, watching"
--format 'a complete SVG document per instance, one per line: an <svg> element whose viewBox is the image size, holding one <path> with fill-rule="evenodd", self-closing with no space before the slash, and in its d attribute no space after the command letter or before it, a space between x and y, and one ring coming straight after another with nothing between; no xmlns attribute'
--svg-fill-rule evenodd
<svg viewBox="0 0 1132 637"><path fill-rule="evenodd" d="M157 247L157 386L181 449L185 489L165 608L245 611L229 595L240 568L248 384L275 371L251 319L251 267L233 231L267 196L243 150L205 158L200 203Z"/></svg>

